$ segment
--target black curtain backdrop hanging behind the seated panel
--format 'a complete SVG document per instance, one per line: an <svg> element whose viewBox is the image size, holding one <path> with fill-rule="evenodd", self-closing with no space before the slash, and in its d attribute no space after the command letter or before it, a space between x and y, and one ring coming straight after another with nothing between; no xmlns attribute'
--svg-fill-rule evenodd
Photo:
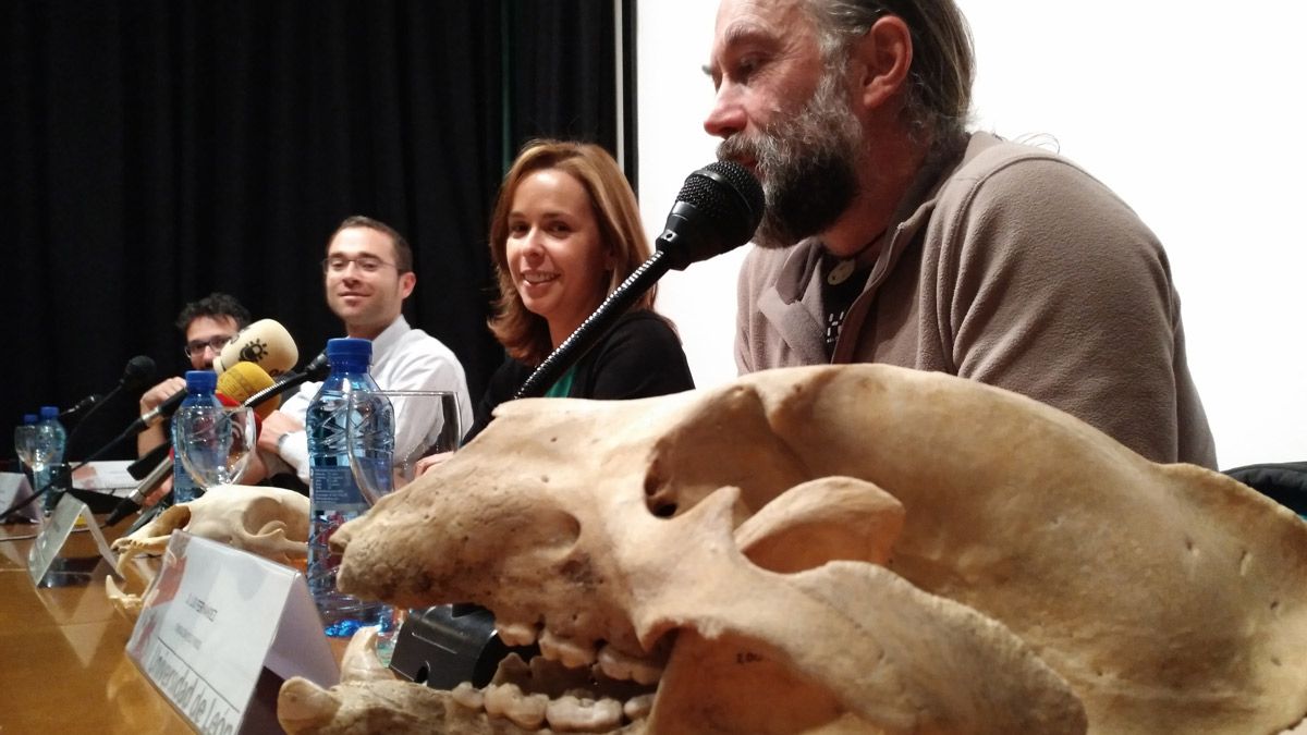
<svg viewBox="0 0 1307 735"><path fill-rule="evenodd" d="M0 3L0 419L106 392L135 354L179 374L173 320L213 290L285 324L307 361L341 333L318 263L356 213L412 242L405 314L476 400L502 360L494 194L528 139L618 145L623 10L614 30L593 0ZM72 458L136 398L93 416Z"/></svg>

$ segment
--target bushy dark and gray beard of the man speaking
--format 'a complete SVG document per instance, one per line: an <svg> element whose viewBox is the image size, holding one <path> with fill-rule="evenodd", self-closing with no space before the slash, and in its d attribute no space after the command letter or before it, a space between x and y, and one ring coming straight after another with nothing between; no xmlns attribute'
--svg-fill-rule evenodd
<svg viewBox="0 0 1307 735"><path fill-rule="evenodd" d="M840 81L827 72L797 115L754 139L735 135L718 146L718 158L753 158L765 182L767 209L755 245L788 247L818 234L857 195L863 127L839 94Z"/></svg>

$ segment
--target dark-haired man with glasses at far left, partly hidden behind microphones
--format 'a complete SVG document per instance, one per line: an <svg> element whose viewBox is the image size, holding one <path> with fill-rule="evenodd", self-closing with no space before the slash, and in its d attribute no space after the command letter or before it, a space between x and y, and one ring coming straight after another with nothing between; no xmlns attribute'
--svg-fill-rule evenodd
<svg viewBox="0 0 1307 735"><path fill-rule="evenodd" d="M186 335L182 352L191 361L192 370L212 370L213 358L222 352L222 345L237 332L250 324L250 311L235 297L225 293L209 296L187 303L176 315L176 328ZM163 381L141 395L141 415L153 411L169 396L186 390L186 378L174 377ZM139 456L149 454L154 447L167 441L167 422L156 424L136 434Z"/></svg>

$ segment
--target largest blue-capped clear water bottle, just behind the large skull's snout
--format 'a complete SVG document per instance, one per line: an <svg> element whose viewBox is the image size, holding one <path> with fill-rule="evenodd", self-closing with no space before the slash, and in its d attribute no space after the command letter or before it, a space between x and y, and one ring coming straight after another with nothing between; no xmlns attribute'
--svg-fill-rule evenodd
<svg viewBox="0 0 1307 735"><path fill-rule="evenodd" d="M340 555L327 545L346 521L367 511L369 494L391 488L395 449L395 412L376 392L367 373L372 343L363 339L327 341L331 375L308 403L305 428L308 433L308 591L312 592L323 628L332 637L350 637L363 626L392 633L389 606L362 602L336 590Z"/></svg>

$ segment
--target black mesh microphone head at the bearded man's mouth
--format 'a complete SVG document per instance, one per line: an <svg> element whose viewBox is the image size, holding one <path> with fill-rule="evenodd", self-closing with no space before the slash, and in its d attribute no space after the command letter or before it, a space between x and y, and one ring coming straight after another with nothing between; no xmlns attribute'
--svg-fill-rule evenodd
<svg viewBox="0 0 1307 735"><path fill-rule="evenodd" d="M762 221L762 184L735 161L716 161L685 179L657 238L672 268L707 260L749 242Z"/></svg>

